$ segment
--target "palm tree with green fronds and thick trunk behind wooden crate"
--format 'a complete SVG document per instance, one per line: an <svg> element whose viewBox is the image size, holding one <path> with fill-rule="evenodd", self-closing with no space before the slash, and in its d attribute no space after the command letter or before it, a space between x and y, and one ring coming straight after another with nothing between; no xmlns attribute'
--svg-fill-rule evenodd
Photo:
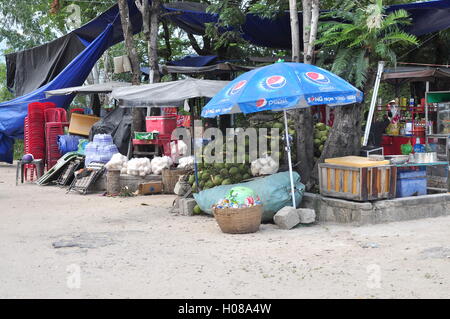
<svg viewBox="0 0 450 319"><path fill-rule="evenodd" d="M417 45L418 40L402 29L410 23L405 10L386 15L381 0L366 7L347 3L351 10L333 10L324 17L328 21L320 25L315 44L333 58L331 71L360 88L368 98L378 61L395 65L396 52L404 46ZM362 113L361 104L335 109L333 128L313 169L315 184L317 164L325 158L359 154Z"/></svg>

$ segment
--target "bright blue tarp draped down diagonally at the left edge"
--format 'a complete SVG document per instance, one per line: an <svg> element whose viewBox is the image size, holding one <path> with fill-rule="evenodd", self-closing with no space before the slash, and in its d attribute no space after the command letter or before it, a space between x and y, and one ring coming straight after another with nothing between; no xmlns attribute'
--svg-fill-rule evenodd
<svg viewBox="0 0 450 319"><path fill-rule="evenodd" d="M0 161L12 163L14 138L23 137L23 124L31 102L53 102L68 107L74 95L45 97L45 91L82 85L94 64L111 45L112 25L84 49L56 78L36 91L0 104Z"/></svg>

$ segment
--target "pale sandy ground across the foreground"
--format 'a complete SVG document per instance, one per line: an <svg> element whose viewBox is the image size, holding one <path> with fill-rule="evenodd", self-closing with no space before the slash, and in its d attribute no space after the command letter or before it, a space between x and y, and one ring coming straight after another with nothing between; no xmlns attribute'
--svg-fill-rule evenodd
<svg viewBox="0 0 450 319"><path fill-rule="evenodd" d="M0 164L1 298L450 297L450 217L226 235L169 213L173 196L66 194L14 174Z"/></svg>

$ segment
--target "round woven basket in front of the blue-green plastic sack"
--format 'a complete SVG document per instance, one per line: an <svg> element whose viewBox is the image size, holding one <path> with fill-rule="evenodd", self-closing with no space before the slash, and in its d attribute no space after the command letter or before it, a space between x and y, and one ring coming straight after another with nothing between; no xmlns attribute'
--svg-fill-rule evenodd
<svg viewBox="0 0 450 319"><path fill-rule="evenodd" d="M247 208L215 208L214 217L220 229L228 234L247 234L258 231L262 206Z"/></svg>

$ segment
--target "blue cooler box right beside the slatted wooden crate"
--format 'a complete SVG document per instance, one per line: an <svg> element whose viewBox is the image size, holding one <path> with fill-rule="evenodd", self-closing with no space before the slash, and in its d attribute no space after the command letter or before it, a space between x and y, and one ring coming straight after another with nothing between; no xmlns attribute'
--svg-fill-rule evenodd
<svg viewBox="0 0 450 319"><path fill-rule="evenodd" d="M397 197L427 194L426 169L397 171Z"/></svg>

